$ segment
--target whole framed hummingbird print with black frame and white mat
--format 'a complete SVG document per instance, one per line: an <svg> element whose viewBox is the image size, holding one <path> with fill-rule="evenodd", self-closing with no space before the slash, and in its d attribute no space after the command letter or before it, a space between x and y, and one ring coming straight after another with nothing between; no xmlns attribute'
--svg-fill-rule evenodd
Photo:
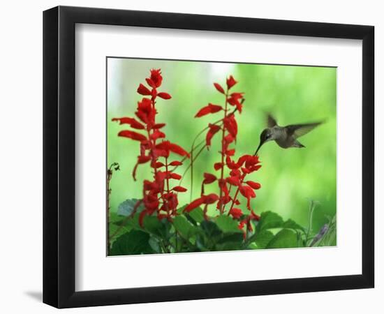
<svg viewBox="0 0 384 314"><path fill-rule="evenodd" d="M43 17L46 304L374 287L374 27Z"/></svg>

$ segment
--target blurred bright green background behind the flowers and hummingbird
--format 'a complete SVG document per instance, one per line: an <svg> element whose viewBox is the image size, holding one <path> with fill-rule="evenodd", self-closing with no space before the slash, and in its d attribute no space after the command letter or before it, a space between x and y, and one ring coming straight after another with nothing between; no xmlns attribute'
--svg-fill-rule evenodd
<svg viewBox="0 0 384 314"><path fill-rule="evenodd" d="M118 137L117 133L128 127L111 121L114 117L135 117L137 102L142 98L136 89L140 82L145 83L151 68L161 68L163 74L158 90L172 95L170 100L158 100L156 121L165 122L163 131L168 140L187 151L202 128L221 119L220 112L202 118L194 115L207 103L223 105L223 95L214 89L213 82L225 87L229 75L238 81L231 91L244 92L246 99L242 114L237 114L236 159L254 153L266 127L267 112L281 126L326 120L300 138L304 149L281 149L274 142L266 143L259 152L263 167L249 179L262 185L252 201L257 214L275 211L284 219L307 226L309 200L316 200L320 204L313 215L314 232L327 223L327 215L336 214L336 68L108 58L108 166L117 162L121 167L110 185L112 211L128 198L141 198L142 180L152 177L148 165L139 165L138 181L133 181L131 172L140 144ZM214 137L212 149L204 151L195 163L193 199L200 194L203 172L215 174L218 151L219 137ZM177 172L182 174L186 165ZM182 184L186 188L190 188L189 174ZM216 184L206 189L210 191L217 193ZM180 205L189 200L189 192L179 193ZM244 212L245 205L244 200ZM215 212L212 207L209 214Z"/></svg>

